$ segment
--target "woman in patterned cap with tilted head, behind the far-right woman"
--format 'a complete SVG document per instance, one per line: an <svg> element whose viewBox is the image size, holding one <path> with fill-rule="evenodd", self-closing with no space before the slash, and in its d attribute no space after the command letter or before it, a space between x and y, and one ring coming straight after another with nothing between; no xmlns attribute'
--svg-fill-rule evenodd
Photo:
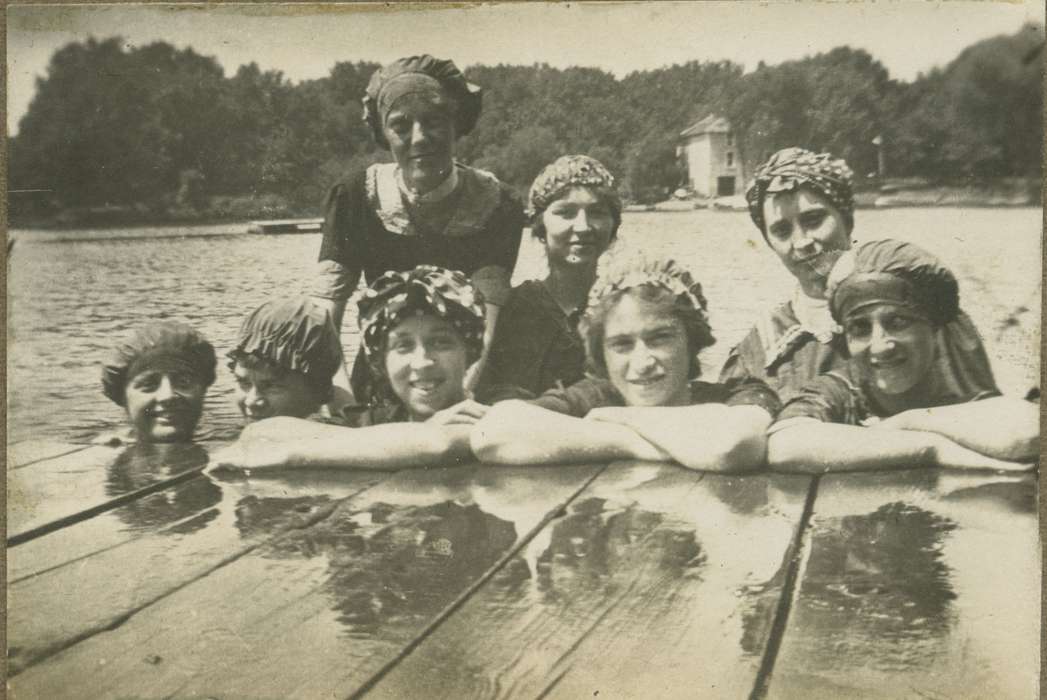
<svg viewBox="0 0 1047 700"><path fill-rule="evenodd" d="M757 168L745 194L750 217L797 287L731 351L721 380L757 377L788 401L809 380L846 364L846 341L829 314L825 287L837 256L851 247L852 177L842 159L796 148ZM937 326L936 336L936 381L957 401L998 391L966 314Z"/></svg>

